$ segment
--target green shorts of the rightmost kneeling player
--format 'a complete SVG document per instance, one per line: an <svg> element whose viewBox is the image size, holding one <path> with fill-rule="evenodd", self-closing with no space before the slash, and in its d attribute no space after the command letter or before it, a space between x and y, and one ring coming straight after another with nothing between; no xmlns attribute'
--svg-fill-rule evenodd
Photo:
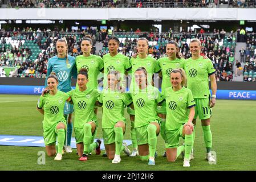
<svg viewBox="0 0 256 182"><path fill-rule="evenodd" d="M185 124L185 123L184 123ZM183 125L177 130L165 130L165 148L177 148L182 136Z"/></svg>

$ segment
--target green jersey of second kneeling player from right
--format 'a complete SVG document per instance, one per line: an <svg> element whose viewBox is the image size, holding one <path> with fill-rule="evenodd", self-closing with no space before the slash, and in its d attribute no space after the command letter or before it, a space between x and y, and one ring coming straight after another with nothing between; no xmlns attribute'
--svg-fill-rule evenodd
<svg viewBox="0 0 256 182"><path fill-rule="evenodd" d="M164 101L164 96L157 88L148 85L145 89L131 93L135 109L135 127L148 125L152 121L160 121L157 115L157 104Z"/></svg>

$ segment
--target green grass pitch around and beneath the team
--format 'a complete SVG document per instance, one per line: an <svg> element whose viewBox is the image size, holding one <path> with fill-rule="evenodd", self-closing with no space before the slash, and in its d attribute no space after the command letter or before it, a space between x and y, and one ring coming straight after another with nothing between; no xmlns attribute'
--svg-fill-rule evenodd
<svg viewBox="0 0 256 182"><path fill-rule="evenodd" d="M39 96L0 95L0 134L42 136L43 115L36 110ZM111 160L92 152L87 162L80 162L76 150L64 154L62 161L46 156L46 164L39 165L38 151L44 147L0 146L0 170L256 170L255 166L255 101L217 100L213 108L211 129L213 151L217 154L217 164L210 165L205 160L205 144L201 122L197 121L194 160L190 168L182 167L179 157L175 163L162 157L164 140L157 138L156 166L148 166L139 157L130 158L121 154L121 163L112 164ZM102 138L101 109L97 114L100 129L97 138ZM125 114L128 119L128 114ZM129 119L124 139L129 138ZM73 136L74 137L74 136ZM129 146L132 149L132 146ZM101 151L102 153L104 151ZM139 167L138 167L139 166Z"/></svg>

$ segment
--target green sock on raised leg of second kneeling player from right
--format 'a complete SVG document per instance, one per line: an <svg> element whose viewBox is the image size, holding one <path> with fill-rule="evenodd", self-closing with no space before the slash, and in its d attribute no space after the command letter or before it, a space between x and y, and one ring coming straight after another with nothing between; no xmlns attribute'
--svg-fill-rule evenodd
<svg viewBox="0 0 256 182"><path fill-rule="evenodd" d="M148 147L149 147L149 157L155 158L156 152L156 125L149 124L147 127L148 131Z"/></svg>

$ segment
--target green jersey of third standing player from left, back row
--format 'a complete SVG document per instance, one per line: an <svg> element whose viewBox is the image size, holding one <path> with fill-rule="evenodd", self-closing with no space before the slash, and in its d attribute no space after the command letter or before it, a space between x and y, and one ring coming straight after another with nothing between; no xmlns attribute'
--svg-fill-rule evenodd
<svg viewBox="0 0 256 182"><path fill-rule="evenodd" d="M107 75L111 71L118 71L120 73L121 81L126 77L124 75L125 71L131 69L131 64L127 56L117 53L115 56L111 56L109 53L103 56L104 63L104 87L107 84Z"/></svg>

